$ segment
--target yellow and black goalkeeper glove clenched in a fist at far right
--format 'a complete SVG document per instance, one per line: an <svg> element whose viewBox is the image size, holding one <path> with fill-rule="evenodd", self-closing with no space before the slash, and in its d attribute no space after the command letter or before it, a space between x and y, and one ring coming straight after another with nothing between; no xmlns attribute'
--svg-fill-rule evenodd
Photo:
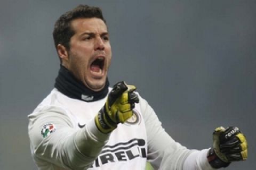
<svg viewBox="0 0 256 170"><path fill-rule="evenodd" d="M213 132L213 147L207 155L213 168L227 167L231 162L247 159L247 141L237 127L219 127Z"/></svg>

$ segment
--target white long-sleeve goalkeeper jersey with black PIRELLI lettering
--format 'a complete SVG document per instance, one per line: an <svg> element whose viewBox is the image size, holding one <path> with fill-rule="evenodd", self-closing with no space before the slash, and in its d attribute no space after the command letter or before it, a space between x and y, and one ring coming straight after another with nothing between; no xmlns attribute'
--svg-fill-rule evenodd
<svg viewBox="0 0 256 170"><path fill-rule="evenodd" d="M94 117L106 97L85 102L53 89L28 115L30 149L38 169L139 170L147 161L155 169L212 169L206 149L189 150L175 142L147 101L139 98L133 116L103 134Z"/></svg>

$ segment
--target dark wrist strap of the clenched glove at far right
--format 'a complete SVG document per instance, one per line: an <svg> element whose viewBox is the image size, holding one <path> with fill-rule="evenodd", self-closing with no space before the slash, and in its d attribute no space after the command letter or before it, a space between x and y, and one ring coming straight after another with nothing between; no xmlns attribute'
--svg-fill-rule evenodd
<svg viewBox="0 0 256 170"><path fill-rule="evenodd" d="M213 168L226 168L230 163L223 162L216 154L213 148L209 149L207 160Z"/></svg>

